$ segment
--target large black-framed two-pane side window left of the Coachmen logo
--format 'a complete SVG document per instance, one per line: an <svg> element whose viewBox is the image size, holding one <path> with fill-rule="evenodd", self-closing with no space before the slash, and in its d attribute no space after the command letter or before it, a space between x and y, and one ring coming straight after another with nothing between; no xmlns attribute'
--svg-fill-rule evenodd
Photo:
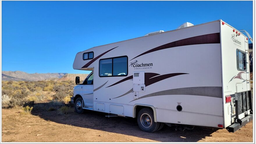
<svg viewBox="0 0 256 144"><path fill-rule="evenodd" d="M99 77L127 76L128 57L115 57L99 60Z"/></svg>

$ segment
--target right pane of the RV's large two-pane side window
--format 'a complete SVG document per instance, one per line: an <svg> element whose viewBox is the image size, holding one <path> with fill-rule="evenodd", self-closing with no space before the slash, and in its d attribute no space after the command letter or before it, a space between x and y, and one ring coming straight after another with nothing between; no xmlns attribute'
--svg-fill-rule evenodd
<svg viewBox="0 0 256 144"><path fill-rule="evenodd" d="M127 75L127 57L113 58L113 75Z"/></svg>

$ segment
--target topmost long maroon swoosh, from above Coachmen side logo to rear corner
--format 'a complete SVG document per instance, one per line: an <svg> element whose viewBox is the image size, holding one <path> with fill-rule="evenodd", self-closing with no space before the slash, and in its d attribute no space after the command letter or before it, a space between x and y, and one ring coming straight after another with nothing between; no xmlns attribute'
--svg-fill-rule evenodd
<svg viewBox="0 0 256 144"><path fill-rule="evenodd" d="M161 46L156 47L154 49L150 49L150 50L136 56L135 58L137 58L139 56L142 56L144 54L154 52L154 51L159 51L159 50L162 50L162 49L168 49L168 48L172 48L172 47L180 47L180 46L185 46L185 45L199 45L199 44L215 44L215 43L221 43L220 33L211 33L211 34L207 34L207 35L199 35L199 36L195 36L195 37L191 37L191 38L185 38L185 39L182 39L182 40L177 40L175 42L170 42L168 44L161 45ZM131 60L133 60L133 59L131 59Z"/></svg>

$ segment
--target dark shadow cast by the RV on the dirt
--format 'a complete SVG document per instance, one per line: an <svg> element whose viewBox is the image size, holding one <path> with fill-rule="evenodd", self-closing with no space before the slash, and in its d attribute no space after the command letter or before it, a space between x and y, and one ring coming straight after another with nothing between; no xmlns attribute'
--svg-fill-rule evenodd
<svg viewBox="0 0 256 144"><path fill-rule="evenodd" d="M45 103L44 103L45 104ZM47 111L42 103L34 104L33 115L52 122L73 125L76 127L96 129L129 136L136 136L161 142L197 142L211 136L218 129L195 127L193 130L175 131L175 127L165 125L160 131L147 133L138 127L136 118L106 117L107 113L87 110L84 114L74 112L70 108L68 114L59 115L58 111ZM40 105L40 107L39 107ZM218 131L217 131L218 132Z"/></svg>

